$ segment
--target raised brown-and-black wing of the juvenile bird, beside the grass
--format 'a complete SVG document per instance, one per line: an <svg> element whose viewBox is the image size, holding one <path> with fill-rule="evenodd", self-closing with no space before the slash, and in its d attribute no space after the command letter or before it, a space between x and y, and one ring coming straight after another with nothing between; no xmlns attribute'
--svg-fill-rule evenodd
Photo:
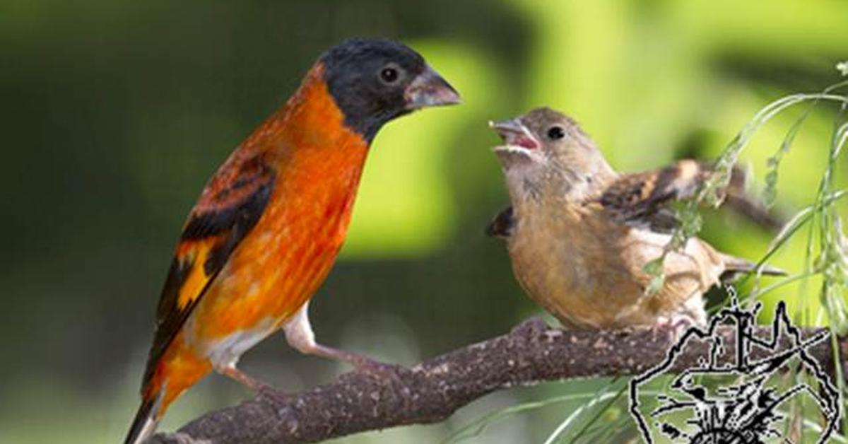
<svg viewBox="0 0 848 444"><path fill-rule="evenodd" d="M666 233L677 227L678 220L663 205L691 197L711 174L704 163L680 160L661 170L624 175L598 201L618 222Z"/></svg>

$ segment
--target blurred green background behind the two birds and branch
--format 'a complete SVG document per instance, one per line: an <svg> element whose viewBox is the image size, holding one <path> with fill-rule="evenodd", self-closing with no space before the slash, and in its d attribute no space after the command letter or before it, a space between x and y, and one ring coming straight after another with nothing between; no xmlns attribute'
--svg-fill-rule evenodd
<svg viewBox="0 0 848 444"><path fill-rule="evenodd" d="M846 18L844 1L800 0L2 0L0 442L123 439L184 216L231 149L344 38L398 38L464 97L379 134L349 241L310 310L326 344L411 364L538 313L503 245L483 235L507 202L486 121L547 104L625 171L710 158L764 104L838 80ZM784 161L779 209L812 200L832 111L812 115ZM797 115L763 127L743 153L755 190ZM762 254L769 233L707 214L703 237ZM793 243L774 264L797 272L802 251ZM800 299L790 287L773 296ZM298 356L282 334L242 362L289 391L346 370ZM604 384L503 391L444 424L338 442L438 441L494 408ZM247 396L210 377L162 429ZM569 408L499 421L471 441L543 441Z"/></svg>

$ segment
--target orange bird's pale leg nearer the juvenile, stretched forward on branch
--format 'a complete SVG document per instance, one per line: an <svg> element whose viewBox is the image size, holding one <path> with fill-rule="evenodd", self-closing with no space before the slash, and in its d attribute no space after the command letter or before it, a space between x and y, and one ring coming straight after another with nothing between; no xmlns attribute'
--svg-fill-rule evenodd
<svg viewBox="0 0 848 444"><path fill-rule="evenodd" d="M338 350L316 343L315 333L312 332L312 325L307 314L309 305L310 303L306 302L304 306L301 306L298 312L282 327L286 333L286 340L289 346L307 355L326 357L327 359L349 363L357 371L372 374L392 373L391 364L381 363L359 353Z"/></svg>

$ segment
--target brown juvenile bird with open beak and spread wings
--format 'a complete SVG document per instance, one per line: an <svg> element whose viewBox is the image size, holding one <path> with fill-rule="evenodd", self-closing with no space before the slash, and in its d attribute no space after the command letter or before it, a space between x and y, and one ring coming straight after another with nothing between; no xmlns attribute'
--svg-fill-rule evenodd
<svg viewBox="0 0 848 444"><path fill-rule="evenodd" d="M662 255L678 224L662 205L693 195L712 174L708 167L681 160L657 171L617 173L575 121L549 108L490 126L505 142L494 152L512 205L487 232L506 239L518 281L564 325L703 324L701 295L753 268L689 239L668 253L665 282L651 294L653 277L644 267Z"/></svg>

